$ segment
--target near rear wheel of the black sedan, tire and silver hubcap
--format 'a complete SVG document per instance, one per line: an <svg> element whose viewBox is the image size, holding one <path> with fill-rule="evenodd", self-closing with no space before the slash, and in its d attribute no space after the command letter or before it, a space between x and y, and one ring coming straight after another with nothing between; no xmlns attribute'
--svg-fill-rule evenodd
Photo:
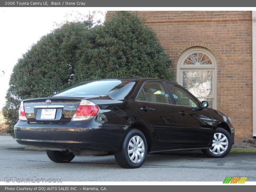
<svg viewBox="0 0 256 192"><path fill-rule="evenodd" d="M134 169L139 168L144 163L147 152L148 145L144 134L138 129L129 129L124 137L120 150L115 152L114 155L116 162L121 167Z"/></svg>

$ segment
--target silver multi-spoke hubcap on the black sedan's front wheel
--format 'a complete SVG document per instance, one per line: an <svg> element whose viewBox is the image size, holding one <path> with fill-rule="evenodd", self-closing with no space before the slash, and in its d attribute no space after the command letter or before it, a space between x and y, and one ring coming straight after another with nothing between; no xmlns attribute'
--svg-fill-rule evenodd
<svg viewBox="0 0 256 192"><path fill-rule="evenodd" d="M212 148L209 149L213 154L220 155L228 148L228 138L222 133L214 133Z"/></svg>

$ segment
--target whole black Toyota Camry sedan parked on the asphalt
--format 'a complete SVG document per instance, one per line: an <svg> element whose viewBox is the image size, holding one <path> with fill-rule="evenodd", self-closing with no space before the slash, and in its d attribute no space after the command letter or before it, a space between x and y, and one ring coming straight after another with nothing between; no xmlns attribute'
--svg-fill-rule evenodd
<svg viewBox="0 0 256 192"><path fill-rule="evenodd" d="M230 119L207 101L153 78L88 81L23 100L14 133L57 163L111 152L124 168L140 167L147 153L202 149L224 157L235 136Z"/></svg>

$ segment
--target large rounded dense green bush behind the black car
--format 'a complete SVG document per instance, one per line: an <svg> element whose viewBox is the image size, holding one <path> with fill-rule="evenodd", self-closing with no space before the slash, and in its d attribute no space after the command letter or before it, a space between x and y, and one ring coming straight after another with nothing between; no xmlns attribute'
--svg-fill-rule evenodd
<svg viewBox="0 0 256 192"><path fill-rule="evenodd" d="M156 34L130 12L117 12L103 25L70 22L43 36L13 68L3 108L13 137L20 100L47 97L70 85L110 77L172 80L172 61Z"/></svg>

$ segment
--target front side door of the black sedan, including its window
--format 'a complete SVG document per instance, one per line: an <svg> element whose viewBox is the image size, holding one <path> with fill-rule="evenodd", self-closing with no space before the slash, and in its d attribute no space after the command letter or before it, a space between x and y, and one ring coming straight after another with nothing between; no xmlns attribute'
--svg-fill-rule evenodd
<svg viewBox="0 0 256 192"><path fill-rule="evenodd" d="M182 146L208 145L212 136L212 117L207 108L181 86L166 83L180 117L179 143Z"/></svg>

